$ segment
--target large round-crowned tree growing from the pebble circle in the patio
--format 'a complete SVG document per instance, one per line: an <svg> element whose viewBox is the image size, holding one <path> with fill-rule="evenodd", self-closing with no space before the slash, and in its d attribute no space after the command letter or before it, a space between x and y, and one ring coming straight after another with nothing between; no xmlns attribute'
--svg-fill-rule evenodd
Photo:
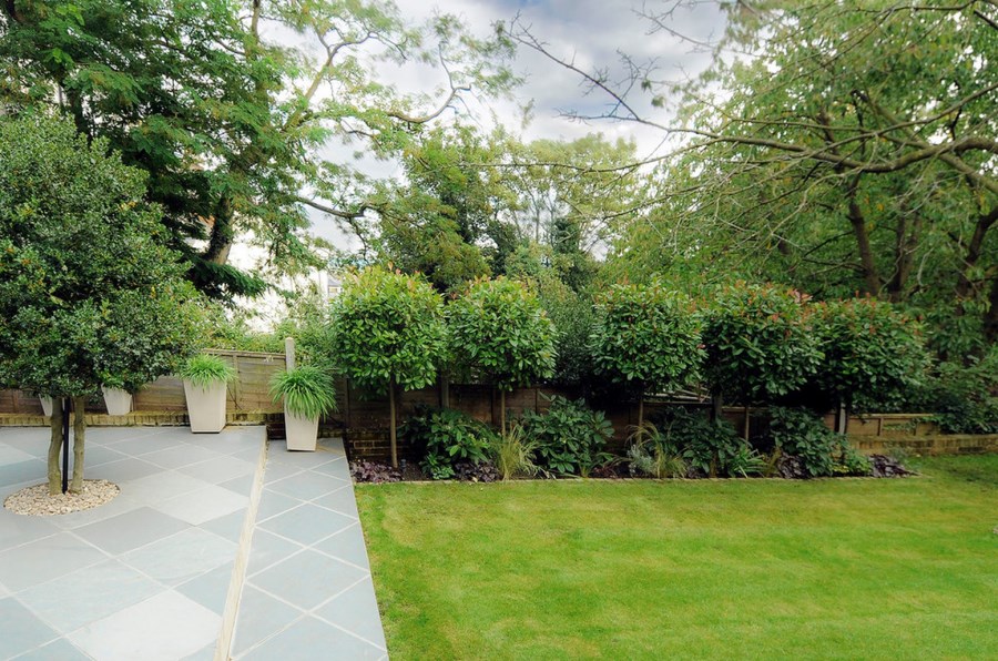
<svg viewBox="0 0 998 661"><path fill-rule="evenodd" d="M134 390L196 350L196 294L164 247L140 171L72 122L0 120L0 383L72 398L73 477L83 486L86 398ZM49 491L60 490L62 409Z"/></svg>

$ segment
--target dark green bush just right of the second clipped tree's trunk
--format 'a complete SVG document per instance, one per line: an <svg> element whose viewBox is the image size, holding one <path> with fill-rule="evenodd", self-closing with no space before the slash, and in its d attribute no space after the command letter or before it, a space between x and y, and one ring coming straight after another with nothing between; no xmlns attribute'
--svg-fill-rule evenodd
<svg viewBox="0 0 998 661"><path fill-rule="evenodd" d="M520 424L526 437L537 444L538 465L552 472L585 477L612 459L603 451L613 436L612 425L581 399L554 396L547 413L528 410Z"/></svg>

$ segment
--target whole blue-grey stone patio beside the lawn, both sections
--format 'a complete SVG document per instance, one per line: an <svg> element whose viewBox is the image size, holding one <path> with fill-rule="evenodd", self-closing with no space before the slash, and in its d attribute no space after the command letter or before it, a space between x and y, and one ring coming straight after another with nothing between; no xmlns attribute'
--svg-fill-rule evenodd
<svg viewBox="0 0 998 661"><path fill-rule="evenodd" d="M224 658L240 594L233 657L386 657L342 445L273 444L261 476L265 445L262 427L89 429L86 477L119 485L113 501L0 508L0 659ZM47 429L0 428L0 500L44 481L47 446ZM231 590L249 530L246 582Z"/></svg>

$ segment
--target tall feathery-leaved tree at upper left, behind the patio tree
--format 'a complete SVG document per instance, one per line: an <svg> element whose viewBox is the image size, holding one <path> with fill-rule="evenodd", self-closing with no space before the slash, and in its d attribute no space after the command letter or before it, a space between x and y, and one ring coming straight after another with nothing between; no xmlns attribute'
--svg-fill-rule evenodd
<svg viewBox="0 0 998 661"><path fill-rule="evenodd" d="M409 26L384 1L11 0L0 3L0 103L62 105L79 132L144 169L163 240L198 288L227 297L264 285L228 264L240 232L287 266L309 258L306 206L363 217L356 174L324 155L330 141L397 153L472 85L505 90L508 52L451 16ZM406 95L379 81L378 67L414 62L438 64L444 85Z"/></svg>

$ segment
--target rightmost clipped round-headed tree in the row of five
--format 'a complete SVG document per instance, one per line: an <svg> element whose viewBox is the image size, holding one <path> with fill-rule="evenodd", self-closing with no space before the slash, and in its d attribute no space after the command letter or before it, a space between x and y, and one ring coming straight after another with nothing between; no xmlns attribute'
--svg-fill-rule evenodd
<svg viewBox="0 0 998 661"><path fill-rule="evenodd" d="M842 409L838 431L857 400L889 403L919 384L928 366L919 328L889 303L853 298L814 308L824 353L814 382Z"/></svg>

